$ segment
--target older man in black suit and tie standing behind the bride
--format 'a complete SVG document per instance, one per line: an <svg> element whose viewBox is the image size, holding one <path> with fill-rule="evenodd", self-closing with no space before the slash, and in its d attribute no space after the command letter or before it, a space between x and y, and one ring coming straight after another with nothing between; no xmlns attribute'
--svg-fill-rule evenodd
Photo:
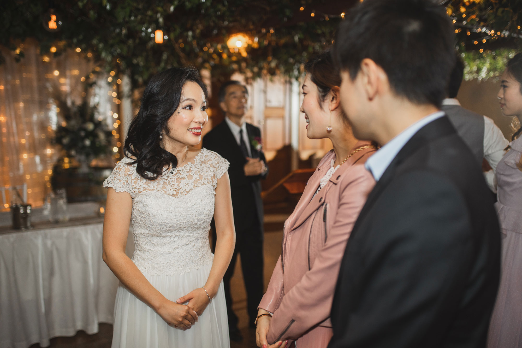
<svg viewBox="0 0 522 348"><path fill-rule="evenodd" d="M230 190L236 243L232 261L223 277L229 319L230 339L240 341L238 317L232 310L230 279L238 253L247 294L250 326L254 326L257 305L263 297L263 201L260 179L267 176L265 154L258 127L246 123L248 91L238 81L221 86L219 105L226 117L203 138L203 147L215 151L230 162ZM216 238L213 238L214 242Z"/></svg>

